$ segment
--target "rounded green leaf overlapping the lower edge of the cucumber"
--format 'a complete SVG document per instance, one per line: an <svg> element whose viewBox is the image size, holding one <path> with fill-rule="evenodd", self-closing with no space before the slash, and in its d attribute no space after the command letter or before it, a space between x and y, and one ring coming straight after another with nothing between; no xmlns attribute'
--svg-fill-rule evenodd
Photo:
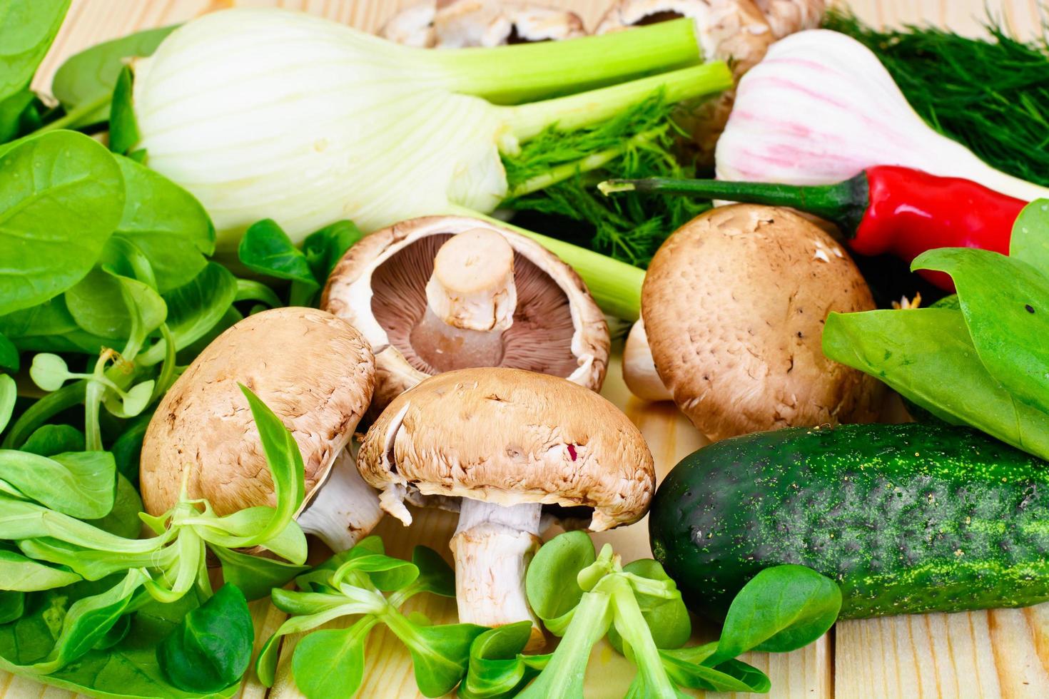
<svg viewBox="0 0 1049 699"><path fill-rule="evenodd" d="M732 599L718 643L716 665L750 650L787 653L816 640L838 618L841 591L805 566L766 568Z"/></svg>

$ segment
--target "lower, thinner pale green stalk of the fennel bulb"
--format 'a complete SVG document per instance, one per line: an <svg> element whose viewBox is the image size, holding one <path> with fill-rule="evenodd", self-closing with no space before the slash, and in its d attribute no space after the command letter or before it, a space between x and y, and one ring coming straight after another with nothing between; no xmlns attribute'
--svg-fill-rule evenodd
<svg viewBox="0 0 1049 699"><path fill-rule="evenodd" d="M724 61L712 61L612 87L502 109L511 132L523 141L537 136L551 124L571 131L604 122L660 90L668 103L675 103L723 92L730 87L732 73L728 65Z"/></svg>

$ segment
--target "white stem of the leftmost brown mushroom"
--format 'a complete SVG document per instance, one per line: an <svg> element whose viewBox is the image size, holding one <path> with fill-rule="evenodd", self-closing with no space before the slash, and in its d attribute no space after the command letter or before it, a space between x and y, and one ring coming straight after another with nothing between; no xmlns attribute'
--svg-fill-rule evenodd
<svg viewBox="0 0 1049 699"><path fill-rule="evenodd" d="M338 553L352 548L382 517L379 496L361 478L356 458L347 446L336 457L327 482L297 521L303 531L316 536Z"/></svg>

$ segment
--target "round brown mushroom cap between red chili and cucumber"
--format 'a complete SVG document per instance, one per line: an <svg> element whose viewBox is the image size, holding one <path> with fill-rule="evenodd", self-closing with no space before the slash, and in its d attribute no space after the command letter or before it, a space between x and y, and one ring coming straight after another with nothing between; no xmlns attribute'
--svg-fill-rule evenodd
<svg viewBox="0 0 1049 699"><path fill-rule="evenodd" d="M713 209L657 252L641 296L656 370L710 439L869 421L880 384L828 359L831 311L874 308L852 258L788 209Z"/></svg>

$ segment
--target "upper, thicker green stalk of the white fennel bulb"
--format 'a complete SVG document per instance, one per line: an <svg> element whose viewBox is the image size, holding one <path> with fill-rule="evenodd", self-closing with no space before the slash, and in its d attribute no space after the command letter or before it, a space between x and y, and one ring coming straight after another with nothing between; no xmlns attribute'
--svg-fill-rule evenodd
<svg viewBox="0 0 1049 699"><path fill-rule="evenodd" d="M695 65L700 54L694 24L681 19L572 41L420 52L420 63L452 91L519 104Z"/></svg>

